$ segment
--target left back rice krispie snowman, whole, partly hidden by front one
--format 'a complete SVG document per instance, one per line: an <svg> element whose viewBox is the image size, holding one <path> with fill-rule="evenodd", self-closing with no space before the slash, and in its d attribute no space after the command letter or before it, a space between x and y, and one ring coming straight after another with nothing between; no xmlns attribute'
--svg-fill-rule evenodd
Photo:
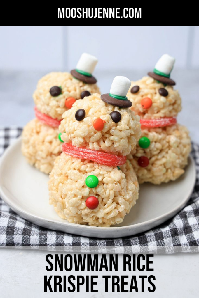
<svg viewBox="0 0 199 298"><path fill-rule="evenodd" d="M62 114L77 99L98 92L97 80L92 72L97 58L83 53L76 69L68 72L51 72L42 77L33 94L35 116L22 133L22 153L29 164L44 173L50 173L61 152L58 127Z"/></svg>

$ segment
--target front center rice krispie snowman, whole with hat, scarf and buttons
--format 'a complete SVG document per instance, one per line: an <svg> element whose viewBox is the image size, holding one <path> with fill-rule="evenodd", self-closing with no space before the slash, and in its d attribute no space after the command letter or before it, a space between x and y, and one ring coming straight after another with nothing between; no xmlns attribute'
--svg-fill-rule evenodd
<svg viewBox="0 0 199 298"><path fill-rule="evenodd" d="M70 223L119 224L136 203L139 185L126 155L141 130L126 97L130 85L126 77L115 77L109 94L76 100L63 114L63 152L48 188L50 204Z"/></svg>

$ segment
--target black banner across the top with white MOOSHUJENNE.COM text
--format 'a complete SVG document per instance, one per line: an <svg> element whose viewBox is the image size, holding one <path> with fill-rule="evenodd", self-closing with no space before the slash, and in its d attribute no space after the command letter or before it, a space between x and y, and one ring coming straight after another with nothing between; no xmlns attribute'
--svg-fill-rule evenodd
<svg viewBox="0 0 199 298"><path fill-rule="evenodd" d="M133 2L133 7L63 7L65 3L45 4L35 2L28 7L15 5L1 9L1 25L14 26L163 26L197 25L197 10L183 5ZM76 5L78 2L75 3ZM142 6L140 7L140 4ZM192 18L190 18L190 16ZM184 23L184 24L183 24ZM191 25L191 24L189 24Z"/></svg>

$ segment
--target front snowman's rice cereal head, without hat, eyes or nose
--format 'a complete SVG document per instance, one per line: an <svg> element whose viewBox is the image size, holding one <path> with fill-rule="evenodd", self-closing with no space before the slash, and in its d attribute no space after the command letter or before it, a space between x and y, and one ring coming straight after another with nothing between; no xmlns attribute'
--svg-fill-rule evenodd
<svg viewBox="0 0 199 298"><path fill-rule="evenodd" d="M77 121L75 113L80 108L85 110L86 116L82 121ZM120 112L120 122L113 122L110 116L112 111ZM59 126L59 130L64 133L62 140L72 142L76 147L125 156L140 138L140 117L135 116L129 108L118 108L104 103L97 93L84 97L83 100L76 100L72 108L62 116L64 119ZM97 118L105 121L102 131L96 131L93 127Z"/></svg>

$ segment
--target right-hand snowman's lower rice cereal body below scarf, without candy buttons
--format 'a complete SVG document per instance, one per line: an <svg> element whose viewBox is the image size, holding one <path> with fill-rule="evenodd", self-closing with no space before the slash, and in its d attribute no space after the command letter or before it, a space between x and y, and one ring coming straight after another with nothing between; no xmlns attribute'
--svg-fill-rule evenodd
<svg viewBox="0 0 199 298"><path fill-rule="evenodd" d="M178 179L184 173L183 169L191 151L187 128L176 124L163 128L143 129L142 136L149 138L150 146L143 149L137 145L127 156L139 183L160 184ZM137 160L140 156L149 158L147 167L138 165Z"/></svg>

